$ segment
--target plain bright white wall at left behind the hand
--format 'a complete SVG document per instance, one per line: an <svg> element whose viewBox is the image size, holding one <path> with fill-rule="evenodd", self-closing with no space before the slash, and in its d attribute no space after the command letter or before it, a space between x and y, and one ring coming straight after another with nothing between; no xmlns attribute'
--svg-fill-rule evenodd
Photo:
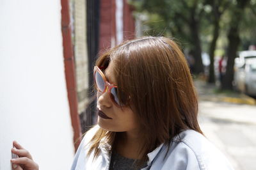
<svg viewBox="0 0 256 170"><path fill-rule="evenodd" d="M74 157L56 0L0 1L0 169L12 141L40 169L70 169Z"/></svg>

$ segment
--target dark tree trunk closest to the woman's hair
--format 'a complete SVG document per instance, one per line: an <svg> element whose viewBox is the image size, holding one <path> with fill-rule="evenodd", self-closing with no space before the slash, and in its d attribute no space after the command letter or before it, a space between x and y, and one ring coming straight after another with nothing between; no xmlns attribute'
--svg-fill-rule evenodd
<svg viewBox="0 0 256 170"><path fill-rule="evenodd" d="M191 35L193 42L193 57L195 58L194 73L204 73L204 65L202 63L202 49L199 38L198 22L192 19L190 22Z"/></svg>

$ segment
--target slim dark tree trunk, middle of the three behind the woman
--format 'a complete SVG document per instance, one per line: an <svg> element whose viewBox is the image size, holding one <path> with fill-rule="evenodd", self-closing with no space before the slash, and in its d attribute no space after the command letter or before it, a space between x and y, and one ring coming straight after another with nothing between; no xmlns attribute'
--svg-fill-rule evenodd
<svg viewBox="0 0 256 170"><path fill-rule="evenodd" d="M213 30L213 38L209 49L209 56L210 56L210 68L209 68L209 83L215 82L215 74L214 74L214 51L216 49L216 42L218 40L220 30L220 23L219 19L214 19L214 30Z"/></svg>

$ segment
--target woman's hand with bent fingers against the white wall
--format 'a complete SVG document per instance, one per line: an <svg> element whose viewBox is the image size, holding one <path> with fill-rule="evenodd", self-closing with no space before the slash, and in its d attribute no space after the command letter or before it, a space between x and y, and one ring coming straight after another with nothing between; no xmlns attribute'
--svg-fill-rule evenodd
<svg viewBox="0 0 256 170"><path fill-rule="evenodd" d="M12 153L18 155L18 158L12 158L12 168L15 170L38 170L38 164L33 161L30 153L22 148L19 143L13 141Z"/></svg>

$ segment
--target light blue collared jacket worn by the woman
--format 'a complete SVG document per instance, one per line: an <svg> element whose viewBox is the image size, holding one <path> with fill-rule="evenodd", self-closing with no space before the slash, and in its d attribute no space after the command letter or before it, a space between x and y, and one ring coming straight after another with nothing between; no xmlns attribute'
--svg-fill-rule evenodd
<svg viewBox="0 0 256 170"><path fill-rule="evenodd" d="M111 160L111 146L100 143L101 153L93 160L93 153L87 156L88 142L92 139L99 126L93 127L84 135L74 158L71 170L108 170ZM167 155L166 155L166 152ZM160 170L228 170L233 169L227 158L215 148L204 135L195 130L185 130L174 137L170 148L161 144L154 151L148 153L146 169Z"/></svg>

